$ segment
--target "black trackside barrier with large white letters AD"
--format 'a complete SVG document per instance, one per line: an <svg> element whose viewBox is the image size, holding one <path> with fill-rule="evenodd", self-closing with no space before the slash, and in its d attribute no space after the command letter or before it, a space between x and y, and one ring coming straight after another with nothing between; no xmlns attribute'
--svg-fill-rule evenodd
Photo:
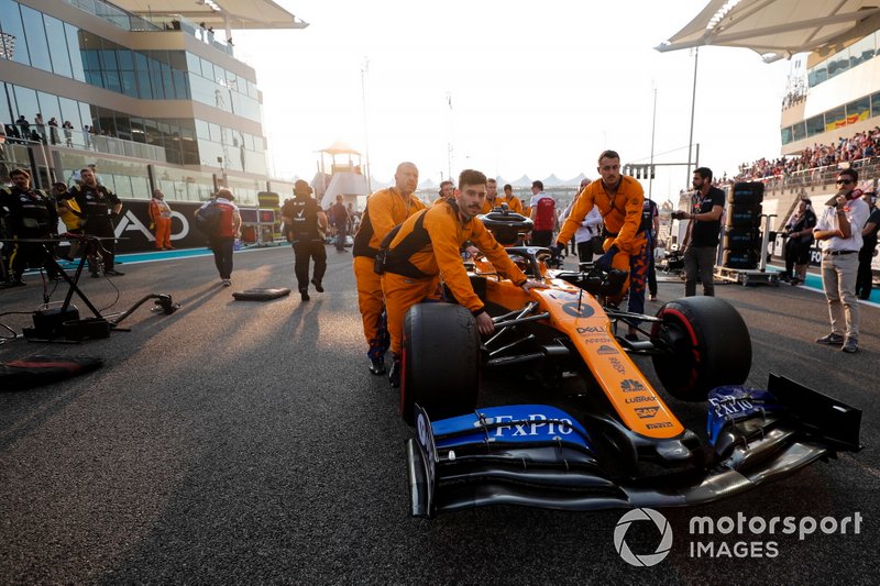
<svg viewBox="0 0 880 586"><path fill-rule="evenodd" d="M175 248L200 248L208 239L193 225L193 214L201 207L200 202L169 201L172 208L172 246ZM244 210L242 210L244 211ZM122 213L113 221L117 253L152 252L156 250L156 239L150 230L150 201L122 200ZM59 226L61 230L63 225Z"/></svg>

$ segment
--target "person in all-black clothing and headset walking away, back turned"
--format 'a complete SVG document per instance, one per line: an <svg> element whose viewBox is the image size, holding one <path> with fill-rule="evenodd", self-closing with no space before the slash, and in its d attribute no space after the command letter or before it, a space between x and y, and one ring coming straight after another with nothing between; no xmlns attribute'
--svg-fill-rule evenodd
<svg viewBox="0 0 880 586"><path fill-rule="evenodd" d="M344 211L344 206L342 209ZM308 301L310 259L315 259L311 284L318 292L323 292L321 280L327 270L327 251L322 233L327 230L327 217L311 197L311 187L302 179L294 184L294 199L284 202L282 219L287 226L287 240L294 245L294 273L299 295L304 301Z"/></svg>

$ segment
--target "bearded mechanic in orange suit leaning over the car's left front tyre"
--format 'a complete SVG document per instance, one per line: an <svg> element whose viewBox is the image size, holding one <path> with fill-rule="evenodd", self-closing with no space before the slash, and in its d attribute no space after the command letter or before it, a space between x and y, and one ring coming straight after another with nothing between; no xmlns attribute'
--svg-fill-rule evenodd
<svg viewBox="0 0 880 586"><path fill-rule="evenodd" d="M459 192L454 199L435 203L424 212L410 217L396 230L396 234L388 234L386 241L391 240L389 243L383 243L383 248L387 245L387 250L383 251L385 268L382 290L385 294L394 355L388 379L395 388L400 385L404 316L420 301L441 298L441 275L455 300L474 314L480 333L490 335L495 331L492 318L474 292L461 261L462 244L470 241L492 262L498 273L526 292L532 288L547 287L540 281L526 278L510 261L504 246L476 219L483 209L485 197L486 176L479 170L465 169L459 176Z"/></svg>

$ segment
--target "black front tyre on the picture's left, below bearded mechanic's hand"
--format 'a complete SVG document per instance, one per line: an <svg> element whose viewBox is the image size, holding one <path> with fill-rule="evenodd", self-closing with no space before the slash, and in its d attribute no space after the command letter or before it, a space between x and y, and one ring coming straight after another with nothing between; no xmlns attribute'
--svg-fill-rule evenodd
<svg viewBox="0 0 880 586"><path fill-rule="evenodd" d="M418 303L404 318L400 414L413 424L420 405L437 421L472 412L480 385L474 317L450 303Z"/></svg>

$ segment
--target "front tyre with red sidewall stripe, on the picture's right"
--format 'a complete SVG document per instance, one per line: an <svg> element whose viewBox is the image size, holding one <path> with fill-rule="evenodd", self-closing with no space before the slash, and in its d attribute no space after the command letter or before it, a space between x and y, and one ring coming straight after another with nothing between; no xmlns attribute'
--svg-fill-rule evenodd
<svg viewBox="0 0 880 586"><path fill-rule="evenodd" d="M666 352L653 355L663 387L676 399L704 401L723 385L740 385L751 369L751 339L746 322L727 301L688 297L657 313L651 340Z"/></svg>

